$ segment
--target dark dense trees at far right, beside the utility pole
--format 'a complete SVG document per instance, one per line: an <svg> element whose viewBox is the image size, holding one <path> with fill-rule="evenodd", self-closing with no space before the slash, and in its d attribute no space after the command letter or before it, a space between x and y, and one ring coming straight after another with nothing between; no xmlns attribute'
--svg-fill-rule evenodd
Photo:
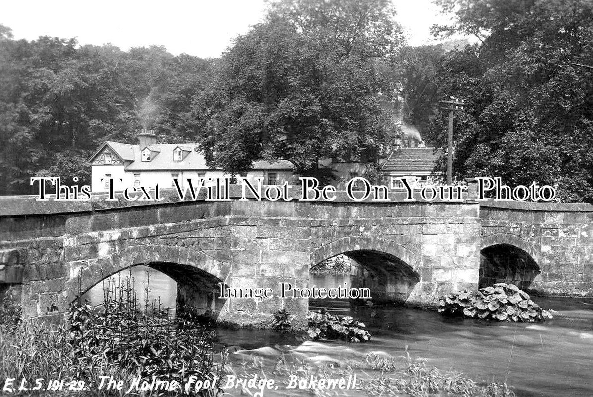
<svg viewBox="0 0 593 397"><path fill-rule="evenodd" d="M509 184L556 185L593 201L593 2L441 0L456 23L436 33L480 39L448 52L436 84L466 99L455 116L454 171ZM445 145L446 112L430 138Z"/></svg>

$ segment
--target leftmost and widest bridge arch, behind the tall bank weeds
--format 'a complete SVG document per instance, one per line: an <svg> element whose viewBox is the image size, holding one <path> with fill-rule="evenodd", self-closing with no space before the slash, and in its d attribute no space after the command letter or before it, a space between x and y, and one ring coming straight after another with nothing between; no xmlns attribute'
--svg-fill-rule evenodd
<svg viewBox="0 0 593 397"><path fill-rule="evenodd" d="M202 251L162 244L129 246L82 262L87 263L71 263L70 278L66 282L70 302L117 272L145 265L176 281L178 297L181 296L184 302L200 309L219 311L223 302L214 293L218 282L226 281L230 273L228 263L216 261Z"/></svg>

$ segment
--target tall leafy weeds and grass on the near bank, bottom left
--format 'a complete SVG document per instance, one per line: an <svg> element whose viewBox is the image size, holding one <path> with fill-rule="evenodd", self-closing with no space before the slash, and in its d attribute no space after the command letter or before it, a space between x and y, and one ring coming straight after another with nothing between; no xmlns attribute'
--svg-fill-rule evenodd
<svg viewBox="0 0 593 397"><path fill-rule="evenodd" d="M67 324L24 322L16 315L18 307L3 306L3 313L14 315L3 316L0 323L0 379L16 378L15 388L23 378L27 387L44 379L41 390L28 390L27 395L121 395L119 390L99 390L100 376L125 380L125 392L136 377L157 376L184 385L190 376L220 376L224 367L225 352L215 360L213 329L203 326L191 311L173 317L160 305L149 304L148 298L141 304L129 280L107 291L99 310L88 303L72 306ZM62 379L66 386L61 390L43 390L48 380ZM71 380L83 380L91 387L72 390Z"/></svg>

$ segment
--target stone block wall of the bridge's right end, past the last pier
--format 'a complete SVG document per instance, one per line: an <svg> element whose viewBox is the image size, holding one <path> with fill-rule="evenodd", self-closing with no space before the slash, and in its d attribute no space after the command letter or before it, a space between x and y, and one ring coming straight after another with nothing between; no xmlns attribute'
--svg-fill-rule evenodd
<svg viewBox="0 0 593 397"><path fill-rule="evenodd" d="M522 274L524 287L554 296L593 295L590 205L487 204L480 207L480 218L483 253L495 247L502 256L499 265L518 262L517 273ZM505 245L511 248L500 252ZM522 253L514 255L517 249ZM490 259L492 256L483 258L483 264Z"/></svg>

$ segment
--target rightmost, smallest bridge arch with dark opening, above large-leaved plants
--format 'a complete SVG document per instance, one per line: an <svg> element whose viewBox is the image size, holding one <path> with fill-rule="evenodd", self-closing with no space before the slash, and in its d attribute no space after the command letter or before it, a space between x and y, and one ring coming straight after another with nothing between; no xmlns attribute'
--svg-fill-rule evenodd
<svg viewBox="0 0 593 397"><path fill-rule="evenodd" d="M541 272L535 247L510 233L483 237L480 254L480 288L506 282L528 290Z"/></svg>

